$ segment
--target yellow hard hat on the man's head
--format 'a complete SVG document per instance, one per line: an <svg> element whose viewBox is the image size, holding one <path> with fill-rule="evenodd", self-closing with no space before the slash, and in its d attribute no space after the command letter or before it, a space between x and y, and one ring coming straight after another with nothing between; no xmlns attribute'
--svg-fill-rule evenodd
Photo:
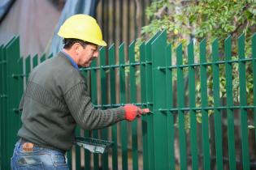
<svg viewBox="0 0 256 170"><path fill-rule="evenodd" d="M102 30L96 19L89 15L72 15L59 28L58 35L63 38L75 38L95 45L106 46L102 40Z"/></svg>

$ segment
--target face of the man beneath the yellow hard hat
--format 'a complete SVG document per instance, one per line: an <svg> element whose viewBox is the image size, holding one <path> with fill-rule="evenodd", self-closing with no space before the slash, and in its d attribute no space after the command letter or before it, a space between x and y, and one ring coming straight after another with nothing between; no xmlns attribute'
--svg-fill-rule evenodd
<svg viewBox="0 0 256 170"><path fill-rule="evenodd" d="M94 58L98 57L98 45L80 45L80 53L78 57L78 66L88 67Z"/></svg>

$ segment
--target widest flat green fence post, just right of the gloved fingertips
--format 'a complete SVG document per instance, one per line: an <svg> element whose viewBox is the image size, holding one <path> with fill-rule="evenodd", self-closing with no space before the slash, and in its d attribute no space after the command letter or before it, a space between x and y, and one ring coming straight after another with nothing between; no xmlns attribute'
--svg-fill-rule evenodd
<svg viewBox="0 0 256 170"><path fill-rule="evenodd" d="M161 32L152 42L153 65L153 104L154 104L154 164L155 169L168 168L167 153L167 113L161 111L166 107L166 73L159 67L166 66L167 32ZM162 57L162 58L159 58ZM163 87L163 88L161 88ZM161 133L159 133L161 132Z"/></svg>

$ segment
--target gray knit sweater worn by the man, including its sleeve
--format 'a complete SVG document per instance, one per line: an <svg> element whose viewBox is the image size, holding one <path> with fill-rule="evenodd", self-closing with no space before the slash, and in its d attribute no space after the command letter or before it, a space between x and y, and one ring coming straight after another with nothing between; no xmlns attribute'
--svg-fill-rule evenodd
<svg viewBox="0 0 256 170"><path fill-rule="evenodd" d="M63 151L72 147L76 124L93 130L124 120L123 107L93 108L85 78L62 52L31 72L20 108L18 136Z"/></svg>

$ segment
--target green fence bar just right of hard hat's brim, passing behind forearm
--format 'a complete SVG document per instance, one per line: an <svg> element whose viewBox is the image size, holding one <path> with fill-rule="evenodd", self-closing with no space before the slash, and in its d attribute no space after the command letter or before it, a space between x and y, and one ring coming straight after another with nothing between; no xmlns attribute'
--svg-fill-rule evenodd
<svg viewBox="0 0 256 170"><path fill-rule="evenodd" d="M115 40L115 39L114 39ZM115 45L111 45L109 48L109 64L110 66L115 65ZM110 69L110 83L111 83L111 104L116 103L115 98L115 68L111 67ZM112 169L118 169L118 150L117 150L117 125L112 125L111 127L112 141L114 145L112 147Z"/></svg>

